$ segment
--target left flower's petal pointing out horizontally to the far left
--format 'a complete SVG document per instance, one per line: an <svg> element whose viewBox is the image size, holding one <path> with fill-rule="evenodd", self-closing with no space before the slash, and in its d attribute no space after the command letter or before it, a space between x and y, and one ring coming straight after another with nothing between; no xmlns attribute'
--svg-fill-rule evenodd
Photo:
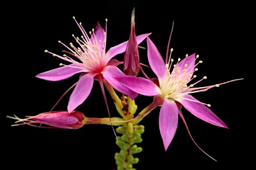
<svg viewBox="0 0 256 170"><path fill-rule="evenodd" d="M59 81L64 80L73 76L78 72L83 72L83 68L73 68L71 66L78 66L77 64L70 64L69 66L61 66L60 68L55 68L53 70L49 70L47 72L41 72L37 74L37 78L41 78L43 80L50 80L50 81Z"/></svg>

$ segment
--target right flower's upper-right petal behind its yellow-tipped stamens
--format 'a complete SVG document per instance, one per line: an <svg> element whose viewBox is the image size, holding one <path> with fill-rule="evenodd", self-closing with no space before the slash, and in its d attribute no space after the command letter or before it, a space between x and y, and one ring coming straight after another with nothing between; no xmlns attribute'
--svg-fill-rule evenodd
<svg viewBox="0 0 256 170"><path fill-rule="evenodd" d="M185 67L185 64L187 64L187 67ZM181 60L181 62L179 62L177 66L175 66L175 68L178 68L178 67L179 67L179 70L181 70L181 73L183 72L184 69L186 69L187 75L189 74L193 75L195 71L195 53Z"/></svg>

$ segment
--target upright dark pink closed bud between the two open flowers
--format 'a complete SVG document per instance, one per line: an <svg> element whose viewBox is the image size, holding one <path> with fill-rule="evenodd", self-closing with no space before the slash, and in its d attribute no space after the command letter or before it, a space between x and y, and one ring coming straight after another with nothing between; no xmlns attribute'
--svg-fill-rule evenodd
<svg viewBox="0 0 256 170"><path fill-rule="evenodd" d="M139 64L139 50L135 35L135 10L131 14L131 34L125 50L125 58L123 60L123 72L126 75L137 76L141 68Z"/></svg>

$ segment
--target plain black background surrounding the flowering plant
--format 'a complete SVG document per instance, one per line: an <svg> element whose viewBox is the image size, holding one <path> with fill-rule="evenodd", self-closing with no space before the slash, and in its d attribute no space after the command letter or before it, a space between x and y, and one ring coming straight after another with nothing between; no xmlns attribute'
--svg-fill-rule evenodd
<svg viewBox="0 0 256 170"><path fill-rule="evenodd" d="M59 58L44 52L45 49L63 54L57 41L74 42L72 34L81 33L73 21L83 23L87 32L97 21L104 27L107 22L107 49L127 41L130 33L131 11L135 7L136 34L152 33L162 56L165 56L172 21L175 21L171 47L173 58L196 52L203 64L199 64L197 77L207 76L198 86L218 84L236 78L245 78L241 56L240 28L243 25L241 12L235 7L218 4L202 6L149 3L149 1L69 1L49 3L13 3L5 6L5 41L3 66L3 94L1 129L4 144L3 163L10 167L27 169L67 168L72 169L116 169L114 154L119 151L110 126L85 125L81 129L41 129L29 126L11 127L13 120L6 115L16 114L20 118L47 112L58 98L79 78L79 74L59 82L35 78L36 74L57 68ZM5 34L6 33L6 34ZM75 43L74 43L75 44ZM141 46L146 46L144 41ZM7 52L7 53L5 53ZM147 62L147 50L140 49L140 60ZM115 56L122 60L123 54ZM151 70L145 71L152 77ZM199 79L198 79L199 80ZM243 141L246 136L241 129L245 122L243 88L245 80L225 84L207 92L195 94L201 102L211 104L211 110L227 124L229 129L207 124L183 109L191 133L213 161L203 154L191 141L185 126L179 126L171 145L165 152L158 128L159 108L141 122L145 126L143 152L136 169L178 169L184 167L217 169L242 163L246 157ZM66 110L71 92L61 100L55 110ZM111 116L118 116L109 99ZM153 101L152 97L139 96L135 102L140 112ZM77 108L88 117L107 117L107 110L99 83L95 82L89 98Z"/></svg>

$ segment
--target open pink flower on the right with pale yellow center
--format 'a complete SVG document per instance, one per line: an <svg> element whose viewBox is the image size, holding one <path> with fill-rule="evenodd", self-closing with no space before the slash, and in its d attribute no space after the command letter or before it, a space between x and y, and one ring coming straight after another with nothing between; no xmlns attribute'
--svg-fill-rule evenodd
<svg viewBox="0 0 256 170"><path fill-rule="evenodd" d="M159 129L165 150L167 150L175 135L178 126L178 115L181 117L187 128L187 124L185 123L183 114L181 113L181 106L184 106L184 108L191 112L191 114L205 122L208 122L209 124L227 128L224 122L222 122L215 114L213 114L213 112L211 112L211 110L209 110L209 108L206 107L210 107L210 104L199 102L199 100L191 96L193 93L205 92L210 88L219 87L219 85L226 84L227 82L212 86L194 88L193 86L195 86L195 84L207 78L203 77L195 83L190 83L191 80L196 78L195 75L193 76L194 71L197 70L195 66L202 62L199 61L195 64L195 60L199 57L198 55L196 56L195 54L191 54L190 56L186 56L183 60L179 58L178 62L174 64L170 54L169 60L165 63L161 54L157 50L157 47L149 37L147 37L147 47L149 64L153 72L157 75L158 82L154 83L152 80L134 76L119 76L116 77L116 79L139 94L155 96L153 102L155 104L152 104L151 108L148 110L151 110L156 106L161 106L159 114ZM170 72L172 65L173 70ZM231 80L229 82L232 81L235 80ZM143 114L141 116L143 116ZM188 128L187 131L189 132ZM190 132L189 135L191 136Z"/></svg>

